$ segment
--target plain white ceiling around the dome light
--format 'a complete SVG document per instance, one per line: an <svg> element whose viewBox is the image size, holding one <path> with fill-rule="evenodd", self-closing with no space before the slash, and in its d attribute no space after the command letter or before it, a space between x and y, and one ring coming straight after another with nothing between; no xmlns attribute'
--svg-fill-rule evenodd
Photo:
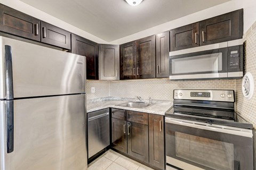
<svg viewBox="0 0 256 170"><path fill-rule="evenodd" d="M230 0L20 0L108 42Z"/></svg>

